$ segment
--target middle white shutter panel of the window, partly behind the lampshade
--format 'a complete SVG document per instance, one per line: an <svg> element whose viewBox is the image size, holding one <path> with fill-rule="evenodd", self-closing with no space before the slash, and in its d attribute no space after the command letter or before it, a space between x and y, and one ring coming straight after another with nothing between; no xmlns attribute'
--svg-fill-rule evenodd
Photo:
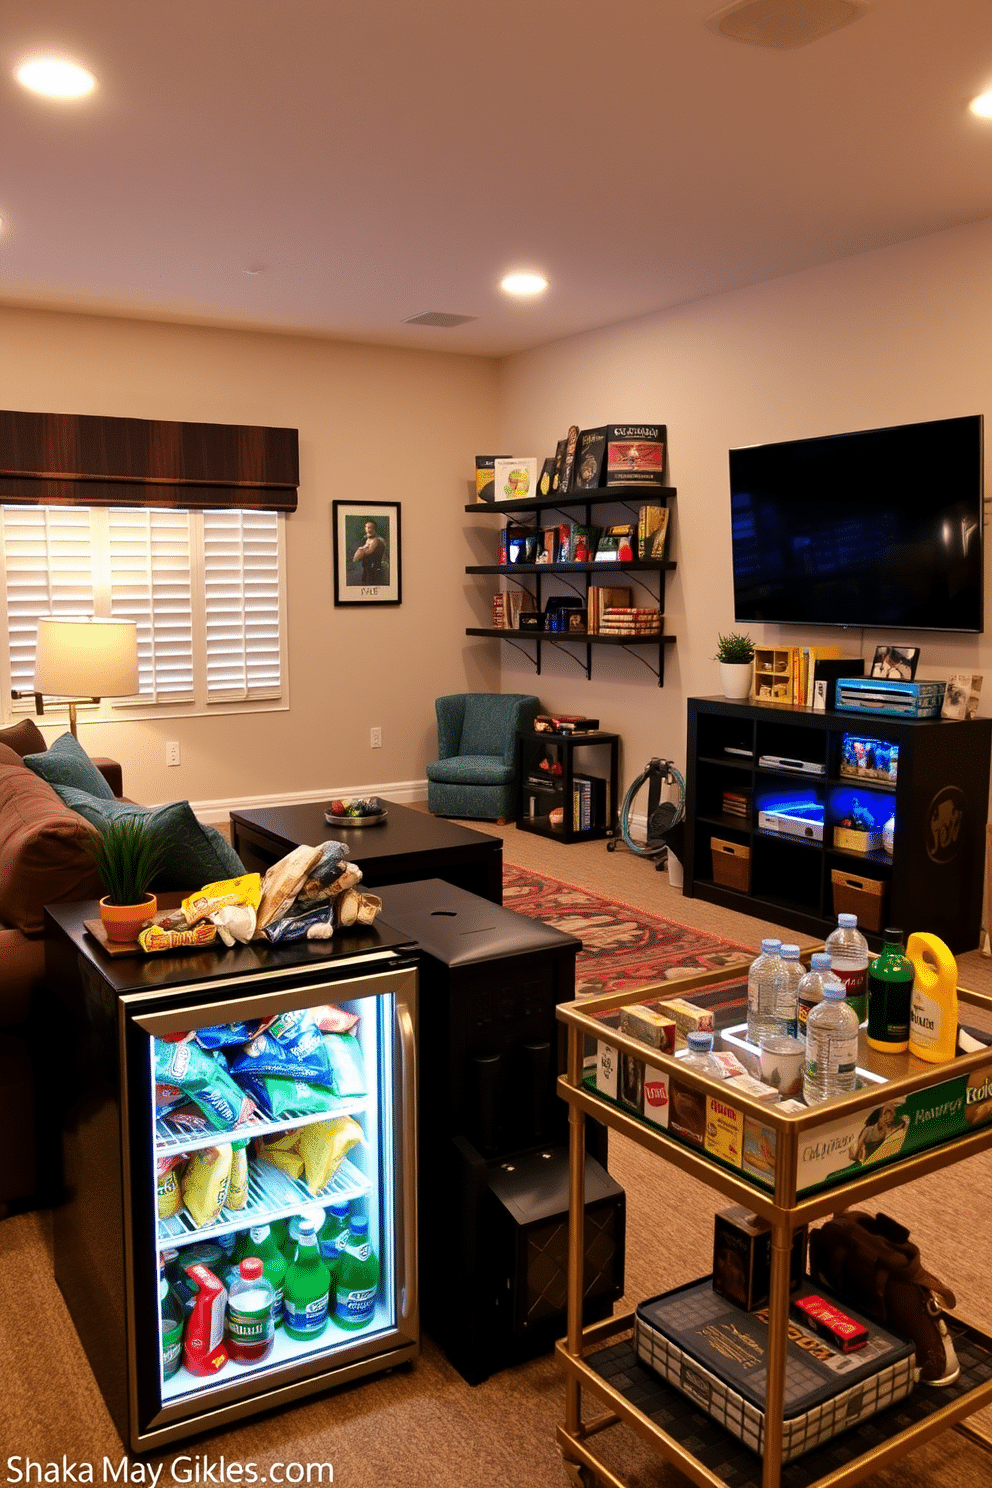
<svg viewBox="0 0 992 1488"><path fill-rule="evenodd" d="M110 507L110 615L138 626L141 702L190 702L193 615L189 512Z"/></svg>

